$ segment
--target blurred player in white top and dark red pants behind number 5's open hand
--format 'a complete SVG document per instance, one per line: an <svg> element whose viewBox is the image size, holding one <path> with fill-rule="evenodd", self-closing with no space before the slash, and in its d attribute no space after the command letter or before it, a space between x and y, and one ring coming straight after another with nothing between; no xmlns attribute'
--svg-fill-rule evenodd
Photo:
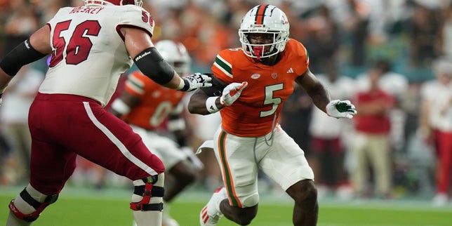
<svg viewBox="0 0 452 226"><path fill-rule="evenodd" d="M325 73L316 74L331 96L350 99L354 95L354 81L338 71L337 62L324 65ZM310 149L314 157L310 165L316 175L319 198L329 192L337 192L340 198L350 197L348 175L345 168L347 135L352 132L352 121L328 117L321 109L312 107L309 124Z"/></svg>

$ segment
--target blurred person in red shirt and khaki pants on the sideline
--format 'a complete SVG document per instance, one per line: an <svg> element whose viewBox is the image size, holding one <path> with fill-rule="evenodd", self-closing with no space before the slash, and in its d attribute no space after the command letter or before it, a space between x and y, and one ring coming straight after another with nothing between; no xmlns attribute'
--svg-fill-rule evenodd
<svg viewBox="0 0 452 226"><path fill-rule="evenodd" d="M359 114L354 117L354 136L350 154L354 166L350 171L355 196L375 195L382 199L392 197L392 148L390 144L390 112L395 105L394 95L380 88L380 79L386 72L378 62L368 69L370 86L354 94ZM371 186L371 172L373 185ZM370 193L373 192L373 193Z"/></svg>

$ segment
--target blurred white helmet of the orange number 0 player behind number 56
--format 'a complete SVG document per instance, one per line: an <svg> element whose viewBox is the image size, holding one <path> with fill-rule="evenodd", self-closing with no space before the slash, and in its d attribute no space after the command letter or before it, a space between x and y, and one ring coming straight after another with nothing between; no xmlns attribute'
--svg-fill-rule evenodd
<svg viewBox="0 0 452 226"><path fill-rule="evenodd" d="M155 48L159 51L160 55L168 62L175 72L178 72L180 76L190 74L190 64L192 58L188 54L187 48L184 44L175 43L171 40L161 40L155 44Z"/></svg>

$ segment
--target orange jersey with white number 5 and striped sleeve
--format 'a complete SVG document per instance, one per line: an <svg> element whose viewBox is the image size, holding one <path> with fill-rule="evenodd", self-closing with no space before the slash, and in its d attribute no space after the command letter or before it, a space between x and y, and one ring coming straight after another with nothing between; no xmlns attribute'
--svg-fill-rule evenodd
<svg viewBox="0 0 452 226"><path fill-rule="evenodd" d="M309 57L303 44L289 39L276 65L267 66L247 57L241 48L220 51L212 66L215 77L227 83L248 81L248 86L230 107L220 111L222 128L243 137L258 137L272 131L283 102L293 93L293 83L306 72Z"/></svg>

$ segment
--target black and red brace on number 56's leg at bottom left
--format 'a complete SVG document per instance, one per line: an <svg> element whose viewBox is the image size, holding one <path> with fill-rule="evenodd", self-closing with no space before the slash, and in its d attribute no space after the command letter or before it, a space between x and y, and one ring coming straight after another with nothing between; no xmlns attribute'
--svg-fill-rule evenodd
<svg viewBox="0 0 452 226"><path fill-rule="evenodd" d="M8 207L11 210L11 213L13 213L16 218L24 220L26 222L33 222L34 220L36 220L41 214L41 212L44 211L44 208L46 208L50 204L53 204L58 199L58 194L52 194L47 196L46 199L44 199L44 202L41 203L34 199L32 195L29 194L27 188L22 190L22 192L20 192L19 195L21 199L17 199L17 202L15 202L16 199L11 200ZM32 206L35 209L35 211L28 214L22 213L18 206L25 205Z"/></svg>

